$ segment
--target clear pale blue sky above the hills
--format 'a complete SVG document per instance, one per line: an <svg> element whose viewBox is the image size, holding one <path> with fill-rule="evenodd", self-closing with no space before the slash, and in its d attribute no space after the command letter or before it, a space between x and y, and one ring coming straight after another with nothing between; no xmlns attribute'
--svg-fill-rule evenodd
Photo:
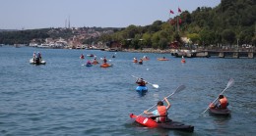
<svg viewBox="0 0 256 136"><path fill-rule="evenodd" d="M0 29L71 26L126 27L165 22L178 7L216 7L221 0L0 0ZM169 10L175 14L170 15Z"/></svg>

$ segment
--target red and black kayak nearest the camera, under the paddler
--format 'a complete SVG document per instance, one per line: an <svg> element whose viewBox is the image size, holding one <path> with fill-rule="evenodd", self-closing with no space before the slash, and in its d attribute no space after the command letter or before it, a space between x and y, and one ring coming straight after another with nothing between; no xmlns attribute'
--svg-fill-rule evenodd
<svg viewBox="0 0 256 136"><path fill-rule="evenodd" d="M152 127L152 128L164 128L164 129L173 129L173 130L180 130L180 131L187 131L187 132L193 132L194 126L192 125L185 125L182 122L172 121L168 120L166 122L156 122L151 117L145 117L142 115L135 115L133 113L130 114L131 118L134 118L136 122L138 122L141 125Z"/></svg>

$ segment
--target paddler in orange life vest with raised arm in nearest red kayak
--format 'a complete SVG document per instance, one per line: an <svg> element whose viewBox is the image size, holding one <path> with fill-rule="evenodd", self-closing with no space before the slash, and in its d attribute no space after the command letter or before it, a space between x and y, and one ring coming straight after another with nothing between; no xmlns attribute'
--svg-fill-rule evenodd
<svg viewBox="0 0 256 136"><path fill-rule="evenodd" d="M158 102L158 107L157 110L153 111L153 112L148 112L148 111L144 111L144 113L149 114L149 115L154 115L157 116L156 121L157 122L165 122L167 120L167 111L170 108L170 103L168 102L167 98L164 98L164 101L167 103L167 106L163 106L163 102L159 101Z"/></svg>

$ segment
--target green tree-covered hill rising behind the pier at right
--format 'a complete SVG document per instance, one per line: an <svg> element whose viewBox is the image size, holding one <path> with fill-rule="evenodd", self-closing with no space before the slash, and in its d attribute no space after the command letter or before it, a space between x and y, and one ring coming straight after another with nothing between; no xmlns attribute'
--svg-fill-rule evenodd
<svg viewBox="0 0 256 136"><path fill-rule="evenodd" d="M165 49L173 41L182 46L181 37L190 39L190 44L210 45L256 45L256 1L222 0L215 8L201 7L192 13L182 12L179 17L167 22L156 21L147 26L129 25L111 35L102 35L100 40L115 41L124 48L145 47ZM178 19L177 19L178 18ZM176 22L177 21L177 22ZM179 32L177 32L179 23Z"/></svg>

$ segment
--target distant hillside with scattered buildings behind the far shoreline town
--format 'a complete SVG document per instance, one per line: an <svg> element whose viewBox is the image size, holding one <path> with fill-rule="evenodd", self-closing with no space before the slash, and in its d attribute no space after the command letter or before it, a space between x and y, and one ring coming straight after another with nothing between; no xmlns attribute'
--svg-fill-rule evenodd
<svg viewBox="0 0 256 136"><path fill-rule="evenodd" d="M79 27L79 28L40 28L25 30L2 30L0 31L0 44L38 44L45 42L46 38L73 40L76 43L92 43L101 33L112 33L120 28L113 27Z"/></svg>

